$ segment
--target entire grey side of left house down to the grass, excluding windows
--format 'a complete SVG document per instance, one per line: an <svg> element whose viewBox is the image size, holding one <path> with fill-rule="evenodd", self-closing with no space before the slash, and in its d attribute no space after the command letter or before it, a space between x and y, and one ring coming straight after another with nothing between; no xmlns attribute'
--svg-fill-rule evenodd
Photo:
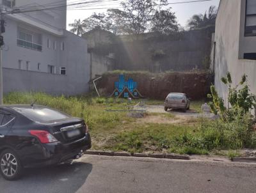
<svg viewBox="0 0 256 193"><path fill-rule="evenodd" d="M19 47L17 29L22 27L42 35L42 51ZM90 66L87 57L87 42L68 31L63 36L54 36L35 26L6 17L6 33L3 47L4 93L9 91L45 91L51 94L77 95L88 92ZM47 47L48 38L51 47ZM56 50L53 48L56 41ZM61 43L64 50L61 50ZM19 70L19 60L22 69ZM29 61L29 71L26 70ZM37 65L40 63L40 70ZM48 72L48 65L56 66L56 74ZM60 75L60 67L67 68L66 75Z"/></svg>

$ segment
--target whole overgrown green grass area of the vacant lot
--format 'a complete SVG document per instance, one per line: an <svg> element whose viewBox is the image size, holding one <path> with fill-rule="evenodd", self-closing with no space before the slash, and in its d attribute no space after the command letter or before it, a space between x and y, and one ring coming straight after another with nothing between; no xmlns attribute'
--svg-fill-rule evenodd
<svg viewBox="0 0 256 193"><path fill-rule="evenodd" d="M36 102L35 102L36 101ZM164 123L134 123L124 109L127 100L88 98L84 96L51 96L45 93L13 92L4 96L4 104L47 105L83 118L93 136L93 146L106 141L100 148L115 151L168 151L187 154L207 154L212 150L256 148L256 133L249 114L225 123L221 120L196 120L194 125ZM136 104L138 101L133 101ZM161 116L161 114L159 114ZM163 114L163 116L165 116ZM168 116L168 118L175 118Z"/></svg>

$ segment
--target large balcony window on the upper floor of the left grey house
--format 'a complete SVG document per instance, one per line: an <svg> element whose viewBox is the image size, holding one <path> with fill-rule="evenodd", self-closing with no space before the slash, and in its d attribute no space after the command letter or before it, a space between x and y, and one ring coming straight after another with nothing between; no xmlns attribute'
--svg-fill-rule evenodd
<svg viewBox="0 0 256 193"><path fill-rule="evenodd" d="M31 50L42 51L42 35L19 28L17 45Z"/></svg>

